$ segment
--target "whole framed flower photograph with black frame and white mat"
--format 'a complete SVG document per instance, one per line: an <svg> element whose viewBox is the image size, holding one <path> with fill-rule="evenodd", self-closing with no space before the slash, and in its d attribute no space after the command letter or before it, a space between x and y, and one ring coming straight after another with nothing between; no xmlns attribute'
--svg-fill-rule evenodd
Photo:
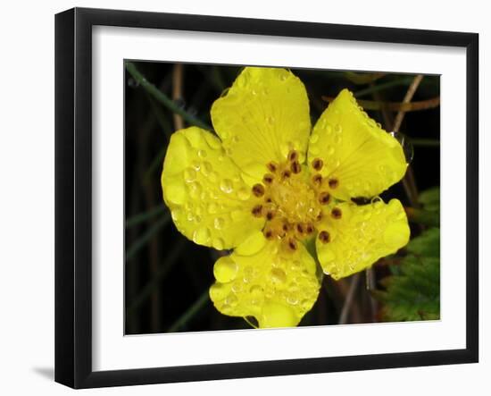
<svg viewBox="0 0 491 396"><path fill-rule="evenodd" d="M55 380L477 362L474 33L55 18Z"/></svg>

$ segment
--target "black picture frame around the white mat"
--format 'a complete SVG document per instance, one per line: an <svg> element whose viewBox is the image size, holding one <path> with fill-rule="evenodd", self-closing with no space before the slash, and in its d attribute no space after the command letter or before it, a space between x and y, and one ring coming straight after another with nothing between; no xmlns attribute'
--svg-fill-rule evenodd
<svg viewBox="0 0 491 396"><path fill-rule="evenodd" d="M116 371L92 368L92 28L96 25L466 49L466 348ZM55 381L73 388L295 375L479 360L479 35L74 8L55 16Z"/></svg>

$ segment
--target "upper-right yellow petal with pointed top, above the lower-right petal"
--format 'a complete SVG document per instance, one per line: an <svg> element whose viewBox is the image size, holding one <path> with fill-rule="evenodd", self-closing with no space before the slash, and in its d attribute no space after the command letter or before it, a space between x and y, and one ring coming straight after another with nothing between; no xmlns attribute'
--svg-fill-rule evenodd
<svg viewBox="0 0 491 396"><path fill-rule="evenodd" d="M374 197L400 181L407 168L403 147L382 130L353 94L343 89L315 124L309 164L320 158L331 195L339 199Z"/></svg>

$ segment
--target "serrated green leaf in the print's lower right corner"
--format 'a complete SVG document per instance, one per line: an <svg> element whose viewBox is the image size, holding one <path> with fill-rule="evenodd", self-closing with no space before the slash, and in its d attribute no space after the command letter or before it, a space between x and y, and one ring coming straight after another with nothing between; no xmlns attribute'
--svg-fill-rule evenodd
<svg viewBox="0 0 491 396"><path fill-rule="evenodd" d="M380 281L385 291L372 291L382 303L387 322L440 318L440 230L431 228L411 240L397 271ZM392 268L391 268L392 270Z"/></svg>

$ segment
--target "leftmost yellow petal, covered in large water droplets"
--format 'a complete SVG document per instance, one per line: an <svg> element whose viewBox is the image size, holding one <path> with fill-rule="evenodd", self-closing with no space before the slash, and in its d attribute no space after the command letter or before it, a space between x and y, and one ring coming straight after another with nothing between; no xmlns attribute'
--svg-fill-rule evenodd
<svg viewBox="0 0 491 396"><path fill-rule="evenodd" d="M200 245L234 248L264 223L251 214L257 198L220 139L196 127L172 134L162 190L179 232Z"/></svg>

